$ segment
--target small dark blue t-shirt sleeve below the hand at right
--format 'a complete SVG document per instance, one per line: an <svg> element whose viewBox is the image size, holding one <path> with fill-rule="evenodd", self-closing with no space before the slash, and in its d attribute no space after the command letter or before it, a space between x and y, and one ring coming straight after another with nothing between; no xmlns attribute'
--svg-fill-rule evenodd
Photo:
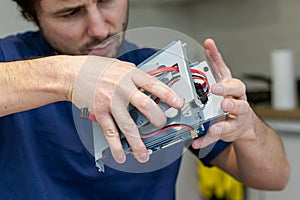
<svg viewBox="0 0 300 200"><path fill-rule="evenodd" d="M207 147L201 149L193 149L191 146L189 149L200 159L200 161L204 165L211 167L212 165L210 164L210 162L230 144L231 142L224 142L222 140L218 140L217 142L212 143Z"/></svg>

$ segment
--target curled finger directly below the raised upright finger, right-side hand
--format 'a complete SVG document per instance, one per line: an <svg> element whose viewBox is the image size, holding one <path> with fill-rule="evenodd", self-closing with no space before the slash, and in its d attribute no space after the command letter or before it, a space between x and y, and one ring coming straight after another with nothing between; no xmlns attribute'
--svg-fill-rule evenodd
<svg viewBox="0 0 300 200"><path fill-rule="evenodd" d="M238 79L230 79L226 82L212 85L212 92L220 96L232 96L238 99L246 98L246 86Z"/></svg>

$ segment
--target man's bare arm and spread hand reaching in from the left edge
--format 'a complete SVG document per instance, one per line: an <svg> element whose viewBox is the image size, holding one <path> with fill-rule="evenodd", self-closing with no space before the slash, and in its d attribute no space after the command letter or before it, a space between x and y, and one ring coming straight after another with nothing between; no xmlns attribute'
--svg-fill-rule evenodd
<svg viewBox="0 0 300 200"><path fill-rule="evenodd" d="M71 101L79 109L88 108L95 115L117 162L123 163L126 159L118 128L125 135L136 159L146 162L149 152L128 113L128 105L134 105L158 127L165 124L166 116L140 89L177 109L184 103L158 79L132 63L117 59L52 56L0 63L0 116L53 102Z"/></svg>

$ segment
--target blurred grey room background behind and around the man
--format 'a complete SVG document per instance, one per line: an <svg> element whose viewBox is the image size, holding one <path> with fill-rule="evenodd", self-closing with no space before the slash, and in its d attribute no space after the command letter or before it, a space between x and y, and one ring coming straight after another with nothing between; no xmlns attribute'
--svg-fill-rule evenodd
<svg viewBox="0 0 300 200"><path fill-rule="evenodd" d="M263 120L280 134L292 167L290 182L284 191L268 192L243 188L247 200L297 199L300 196L300 110L298 79L300 78L300 1L298 0L129 0L129 29L164 27L180 31L203 44L205 38L217 42L233 75L247 85L248 98ZM12 1L0 2L0 37L35 30L19 14ZM292 78L274 79L272 52L292 52ZM286 67L286 68L285 68ZM282 66L290 70L287 66ZM283 76L282 76L283 77ZM290 87L273 88L275 81ZM296 106L279 108L272 104L272 92L292 90ZM281 96L282 103L289 97ZM255 153L255 150L253 150ZM189 153L184 155L177 183L178 200L205 199L200 192L199 163ZM206 177L207 178L207 177ZM218 185L220 187L220 185ZM235 187L232 186L231 189ZM232 192L232 191L231 191ZM219 197L220 199L221 197ZM217 199L211 197L210 199ZM223 199L229 199L224 197ZM233 198L231 198L233 199ZM237 198L235 198L237 199Z"/></svg>

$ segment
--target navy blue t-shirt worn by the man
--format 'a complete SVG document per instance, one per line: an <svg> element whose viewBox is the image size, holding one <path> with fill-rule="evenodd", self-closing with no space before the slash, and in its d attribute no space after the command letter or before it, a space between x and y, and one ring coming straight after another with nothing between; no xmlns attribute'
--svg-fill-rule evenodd
<svg viewBox="0 0 300 200"><path fill-rule="evenodd" d="M135 52L120 59L139 64L152 53ZM0 62L54 54L40 32L0 40ZM226 146L218 142L203 162L208 164ZM180 161L148 173L126 173L109 167L99 173L77 134L70 102L0 118L1 199L171 200L175 199Z"/></svg>

